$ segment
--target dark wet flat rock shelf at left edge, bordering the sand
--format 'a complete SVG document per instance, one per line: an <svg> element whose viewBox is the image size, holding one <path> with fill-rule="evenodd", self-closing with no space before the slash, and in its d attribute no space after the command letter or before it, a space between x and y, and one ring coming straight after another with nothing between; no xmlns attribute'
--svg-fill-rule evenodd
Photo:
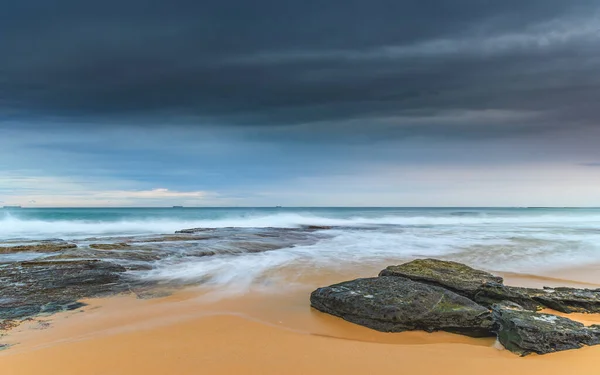
<svg viewBox="0 0 600 375"><path fill-rule="evenodd" d="M0 268L0 323L77 309L77 300L125 291L122 266L99 260L31 261Z"/></svg>

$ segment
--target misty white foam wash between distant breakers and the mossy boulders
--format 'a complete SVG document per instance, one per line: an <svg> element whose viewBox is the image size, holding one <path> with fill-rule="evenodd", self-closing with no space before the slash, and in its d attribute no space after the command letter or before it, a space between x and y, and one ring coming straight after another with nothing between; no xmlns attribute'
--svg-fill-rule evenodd
<svg viewBox="0 0 600 375"><path fill-rule="evenodd" d="M290 270L343 273L347 269L369 269L373 272L364 276L375 276L389 264L425 257L461 261L490 271L531 274L600 261L600 235L582 237L580 243L569 249L568 244L545 241L536 246L521 246L485 232L339 230L333 234L308 246L165 262L145 277L192 283L201 280L222 291L242 292L257 285L289 287L276 281L283 275L289 278Z"/></svg>

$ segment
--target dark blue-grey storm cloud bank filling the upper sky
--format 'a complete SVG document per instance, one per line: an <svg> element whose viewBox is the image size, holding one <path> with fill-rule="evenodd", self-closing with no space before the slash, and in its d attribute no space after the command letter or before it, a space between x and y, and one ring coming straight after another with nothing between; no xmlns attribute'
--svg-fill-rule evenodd
<svg viewBox="0 0 600 375"><path fill-rule="evenodd" d="M0 124L339 133L350 120L359 133L384 123L383 138L590 126L599 11L593 0L10 1Z"/></svg>

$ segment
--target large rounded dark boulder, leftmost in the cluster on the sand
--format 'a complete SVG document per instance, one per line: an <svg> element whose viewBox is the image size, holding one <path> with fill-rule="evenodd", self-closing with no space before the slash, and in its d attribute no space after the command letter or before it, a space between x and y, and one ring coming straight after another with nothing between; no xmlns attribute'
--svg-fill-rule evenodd
<svg viewBox="0 0 600 375"><path fill-rule="evenodd" d="M310 301L319 311L383 332L492 334L491 314L485 307L441 287L402 277L357 279L319 288Z"/></svg>

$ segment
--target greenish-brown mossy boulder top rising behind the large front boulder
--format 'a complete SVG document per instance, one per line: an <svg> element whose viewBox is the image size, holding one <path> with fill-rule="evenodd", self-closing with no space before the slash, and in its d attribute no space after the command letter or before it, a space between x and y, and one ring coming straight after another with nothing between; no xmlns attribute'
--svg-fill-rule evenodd
<svg viewBox="0 0 600 375"><path fill-rule="evenodd" d="M417 259L399 266L389 266L379 276L400 276L414 281L438 285L468 298L474 298L486 283L502 284L499 276L476 270L457 262Z"/></svg>

